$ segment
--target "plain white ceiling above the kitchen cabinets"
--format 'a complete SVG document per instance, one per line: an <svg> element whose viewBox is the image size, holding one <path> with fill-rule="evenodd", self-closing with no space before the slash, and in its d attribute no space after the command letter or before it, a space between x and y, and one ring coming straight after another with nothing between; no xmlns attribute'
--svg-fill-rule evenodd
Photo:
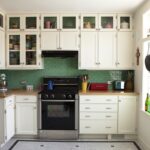
<svg viewBox="0 0 150 150"><path fill-rule="evenodd" d="M0 0L6 12L134 12L146 0Z"/></svg>

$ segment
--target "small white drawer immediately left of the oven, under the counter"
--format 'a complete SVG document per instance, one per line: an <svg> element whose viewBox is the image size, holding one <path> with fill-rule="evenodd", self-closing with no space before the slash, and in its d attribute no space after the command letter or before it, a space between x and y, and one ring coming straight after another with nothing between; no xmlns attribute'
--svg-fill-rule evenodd
<svg viewBox="0 0 150 150"><path fill-rule="evenodd" d="M37 97L36 96L16 96L16 102L23 102L23 103L29 103L29 102L37 102Z"/></svg>

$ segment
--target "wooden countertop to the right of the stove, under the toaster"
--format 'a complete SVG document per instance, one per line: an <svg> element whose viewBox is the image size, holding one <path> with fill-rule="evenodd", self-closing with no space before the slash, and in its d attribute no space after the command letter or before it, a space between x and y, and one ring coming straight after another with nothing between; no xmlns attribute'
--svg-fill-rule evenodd
<svg viewBox="0 0 150 150"><path fill-rule="evenodd" d="M80 95L129 95L129 96L138 96L136 92L124 92L124 91L80 91Z"/></svg>

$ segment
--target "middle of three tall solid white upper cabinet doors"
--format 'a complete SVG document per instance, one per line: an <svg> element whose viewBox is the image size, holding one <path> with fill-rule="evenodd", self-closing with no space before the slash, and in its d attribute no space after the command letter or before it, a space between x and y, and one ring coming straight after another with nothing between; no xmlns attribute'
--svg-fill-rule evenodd
<svg viewBox="0 0 150 150"><path fill-rule="evenodd" d="M115 67L115 60L116 60L115 32L99 33L99 59L101 68L111 69Z"/></svg>

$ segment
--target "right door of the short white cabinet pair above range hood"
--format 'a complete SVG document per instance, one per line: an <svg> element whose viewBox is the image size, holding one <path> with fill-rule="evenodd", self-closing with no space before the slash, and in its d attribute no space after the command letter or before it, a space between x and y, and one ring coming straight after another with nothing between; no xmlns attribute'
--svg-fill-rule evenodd
<svg viewBox="0 0 150 150"><path fill-rule="evenodd" d="M78 50L78 32L60 32L60 48Z"/></svg>

